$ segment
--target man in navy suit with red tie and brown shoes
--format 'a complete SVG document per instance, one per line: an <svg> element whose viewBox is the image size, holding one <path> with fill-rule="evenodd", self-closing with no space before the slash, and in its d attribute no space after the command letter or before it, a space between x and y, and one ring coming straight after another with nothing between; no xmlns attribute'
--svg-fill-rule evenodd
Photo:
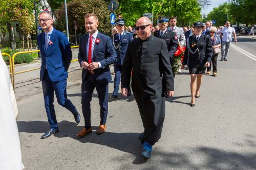
<svg viewBox="0 0 256 170"><path fill-rule="evenodd" d="M80 38L78 61L82 69L82 114L85 126L76 135L83 137L92 132L92 93L96 88L100 105L100 125L97 134L105 131L108 116L109 82L112 80L110 64L117 61L117 55L110 37L98 32L99 20L93 14L84 16L86 35Z"/></svg>

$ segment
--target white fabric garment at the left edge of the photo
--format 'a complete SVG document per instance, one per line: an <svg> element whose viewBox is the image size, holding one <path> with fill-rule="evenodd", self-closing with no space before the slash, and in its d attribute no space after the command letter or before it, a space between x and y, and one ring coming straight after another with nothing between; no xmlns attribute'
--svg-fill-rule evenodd
<svg viewBox="0 0 256 170"><path fill-rule="evenodd" d="M16 124L17 107L8 68L0 51L0 169L23 169ZM16 112L16 113L15 113Z"/></svg>

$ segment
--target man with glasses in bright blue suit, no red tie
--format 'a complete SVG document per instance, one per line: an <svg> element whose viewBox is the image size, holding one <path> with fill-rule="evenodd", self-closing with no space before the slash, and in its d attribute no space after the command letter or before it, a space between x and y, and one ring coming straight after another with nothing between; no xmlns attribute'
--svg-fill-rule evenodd
<svg viewBox="0 0 256 170"><path fill-rule="evenodd" d="M48 122L51 126L50 130L41 136L41 139L44 139L58 132L53 105L54 91L58 104L71 111L77 124L80 122L80 114L67 99L68 69L72 60L69 41L65 34L53 28L53 18L48 11L39 14L39 22L44 30L37 36L37 44L41 52L40 81Z"/></svg>

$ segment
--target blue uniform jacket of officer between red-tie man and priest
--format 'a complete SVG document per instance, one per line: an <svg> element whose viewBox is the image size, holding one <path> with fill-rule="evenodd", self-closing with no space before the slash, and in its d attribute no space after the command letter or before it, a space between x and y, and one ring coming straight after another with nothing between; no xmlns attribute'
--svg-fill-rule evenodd
<svg viewBox="0 0 256 170"><path fill-rule="evenodd" d="M123 65L123 60L125 57L128 44L133 39L133 34L128 32L124 32L121 39L119 39L118 33L112 36L113 44L115 44L116 47L120 44L119 48L115 49L117 54L117 65Z"/></svg>

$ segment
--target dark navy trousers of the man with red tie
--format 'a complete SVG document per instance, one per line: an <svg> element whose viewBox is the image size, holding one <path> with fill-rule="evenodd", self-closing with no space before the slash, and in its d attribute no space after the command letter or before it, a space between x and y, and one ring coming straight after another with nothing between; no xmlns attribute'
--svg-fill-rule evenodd
<svg viewBox="0 0 256 170"><path fill-rule="evenodd" d="M98 84L93 74L86 76L82 81L82 114L86 129L91 127L91 101L93 91L96 88L100 106L100 125L106 124L108 116L109 84Z"/></svg>

